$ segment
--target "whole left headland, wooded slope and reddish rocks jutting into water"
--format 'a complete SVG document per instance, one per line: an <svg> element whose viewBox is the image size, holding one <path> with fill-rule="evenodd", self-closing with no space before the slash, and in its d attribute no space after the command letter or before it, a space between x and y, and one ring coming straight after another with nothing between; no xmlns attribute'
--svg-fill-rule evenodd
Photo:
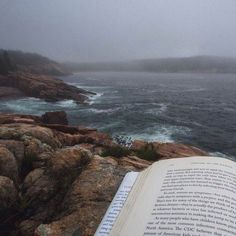
<svg viewBox="0 0 236 236"><path fill-rule="evenodd" d="M41 55L0 49L0 99L30 96L84 102L94 94L51 77L68 73L60 63Z"/></svg>

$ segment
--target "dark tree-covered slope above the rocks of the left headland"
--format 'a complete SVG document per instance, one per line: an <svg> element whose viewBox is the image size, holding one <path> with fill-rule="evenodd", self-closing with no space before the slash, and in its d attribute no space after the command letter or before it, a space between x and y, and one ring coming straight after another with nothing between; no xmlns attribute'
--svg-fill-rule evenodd
<svg viewBox="0 0 236 236"><path fill-rule="evenodd" d="M0 74L6 75L16 70L40 75L68 74L68 71L61 64L39 54L0 50Z"/></svg>

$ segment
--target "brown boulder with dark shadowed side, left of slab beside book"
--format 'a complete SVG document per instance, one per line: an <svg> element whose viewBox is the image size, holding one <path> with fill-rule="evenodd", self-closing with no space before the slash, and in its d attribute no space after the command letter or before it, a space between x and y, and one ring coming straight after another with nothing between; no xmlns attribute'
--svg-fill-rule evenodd
<svg viewBox="0 0 236 236"><path fill-rule="evenodd" d="M85 149L65 148L56 151L44 167L26 176L21 195L27 203L25 211L31 214L30 220L42 222L59 214L64 195L91 158L92 154ZM28 227L24 224L23 228L25 232Z"/></svg>

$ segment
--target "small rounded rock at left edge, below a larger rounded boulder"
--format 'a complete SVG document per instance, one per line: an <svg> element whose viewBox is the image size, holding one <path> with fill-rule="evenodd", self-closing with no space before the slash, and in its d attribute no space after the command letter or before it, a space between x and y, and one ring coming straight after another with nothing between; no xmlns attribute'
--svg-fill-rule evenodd
<svg viewBox="0 0 236 236"><path fill-rule="evenodd" d="M11 208L17 201L17 190L11 179L0 176L0 211Z"/></svg>

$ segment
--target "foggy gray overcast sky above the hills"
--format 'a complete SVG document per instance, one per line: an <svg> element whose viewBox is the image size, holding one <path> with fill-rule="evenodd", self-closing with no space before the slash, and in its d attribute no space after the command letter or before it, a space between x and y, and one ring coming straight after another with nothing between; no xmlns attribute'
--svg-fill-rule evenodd
<svg viewBox="0 0 236 236"><path fill-rule="evenodd" d="M79 62L236 57L236 0L0 0L0 48Z"/></svg>

